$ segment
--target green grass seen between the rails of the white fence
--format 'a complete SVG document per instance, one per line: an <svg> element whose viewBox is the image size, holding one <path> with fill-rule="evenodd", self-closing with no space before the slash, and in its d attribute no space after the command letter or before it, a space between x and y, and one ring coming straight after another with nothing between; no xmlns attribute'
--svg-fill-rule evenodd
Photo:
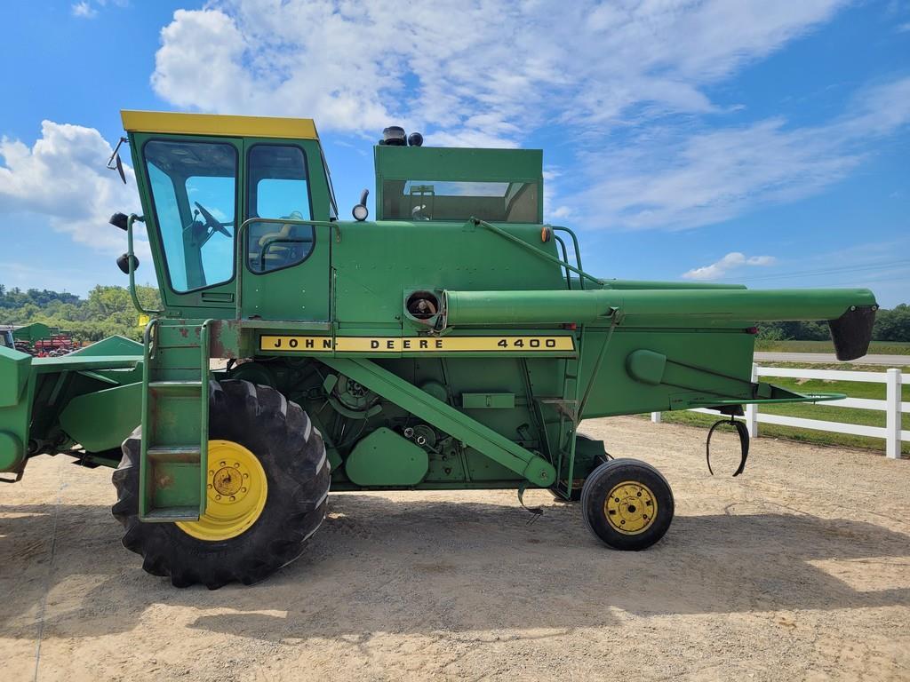
<svg viewBox="0 0 910 682"><path fill-rule="evenodd" d="M786 342L793 343L793 342ZM795 343L813 343L813 342L795 342ZM795 367L794 363L767 363L767 366L788 366ZM813 365L812 369L842 369L843 366L824 366ZM858 371L881 372L883 367L860 366L852 367ZM910 366L903 368L905 374L910 374ZM763 381L770 382L777 386L790 388L794 391L813 392L824 391L828 393L844 393L850 397L857 398L875 398L885 399L885 384L867 384L854 381L822 381L815 379L791 379L787 377L766 376L761 377ZM903 400L910 401L910 386L902 386ZM885 412L877 410L854 409L852 407L835 407L819 403L811 404L789 404L789 405L769 405L761 406L759 413L799 416L806 419L822 419L824 421L844 422L850 424L862 424L865 426L885 426ZM691 424L694 426L711 426L718 417L703 415L697 412L664 412L663 421L672 424ZM910 415L903 416L902 428L910 429ZM850 436L847 434L828 433L826 431L814 431L806 428L796 428L794 426L778 426L776 424L759 424L759 435L777 438L788 438L804 443L814 443L818 445L845 446L845 447L862 447L876 452L885 452L884 438L871 438L867 436ZM904 441L901 446L901 452L910 455L910 442Z"/></svg>

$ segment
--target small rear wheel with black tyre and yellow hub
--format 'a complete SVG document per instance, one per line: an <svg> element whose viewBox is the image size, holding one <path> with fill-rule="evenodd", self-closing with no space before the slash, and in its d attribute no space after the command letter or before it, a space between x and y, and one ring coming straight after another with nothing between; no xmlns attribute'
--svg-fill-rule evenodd
<svg viewBox="0 0 910 682"><path fill-rule="evenodd" d="M581 489L588 529L615 549L651 547L673 519L673 494L657 469L637 459L613 459L591 472Z"/></svg>

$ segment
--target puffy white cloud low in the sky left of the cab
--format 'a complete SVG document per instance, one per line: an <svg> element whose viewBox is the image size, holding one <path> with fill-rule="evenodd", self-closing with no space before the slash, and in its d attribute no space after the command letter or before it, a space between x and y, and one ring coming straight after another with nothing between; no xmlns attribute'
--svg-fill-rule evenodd
<svg viewBox="0 0 910 682"><path fill-rule="evenodd" d="M111 145L95 128L43 121L31 147L0 139L0 214L46 216L58 232L98 251L119 255L124 233L107 224L115 211L139 212L133 169L124 165L128 185L105 167ZM14 229L5 220L4 230ZM147 253L142 242L140 254Z"/></svg>

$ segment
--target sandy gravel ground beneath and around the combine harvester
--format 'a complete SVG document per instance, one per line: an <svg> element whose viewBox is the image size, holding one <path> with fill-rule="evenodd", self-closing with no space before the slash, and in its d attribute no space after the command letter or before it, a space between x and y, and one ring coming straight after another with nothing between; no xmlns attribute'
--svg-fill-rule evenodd
<svg viewBox="0 0 910 682"><path fill-rule="evenodd" d="M910 462L759 439L712 478L703 430L584 426L669 479L651 550L542 491L533 524L508 491L340 494L298 562L214 592L120 546L109 470L39 457L0 487L0 679L910 679Z"/></svg>

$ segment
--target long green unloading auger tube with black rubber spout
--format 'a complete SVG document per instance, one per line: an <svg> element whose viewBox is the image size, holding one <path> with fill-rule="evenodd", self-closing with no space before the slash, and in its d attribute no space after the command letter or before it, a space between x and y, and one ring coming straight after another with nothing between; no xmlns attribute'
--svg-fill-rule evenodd
<svg viewBox="0 0 910 682"><path fill-rule="evenodd" d="M838 360L865 354L877 309L875 295L862 288L443 292L443 319L455 327L603 323L613 310L625 326L824 320Z"/></svg>

